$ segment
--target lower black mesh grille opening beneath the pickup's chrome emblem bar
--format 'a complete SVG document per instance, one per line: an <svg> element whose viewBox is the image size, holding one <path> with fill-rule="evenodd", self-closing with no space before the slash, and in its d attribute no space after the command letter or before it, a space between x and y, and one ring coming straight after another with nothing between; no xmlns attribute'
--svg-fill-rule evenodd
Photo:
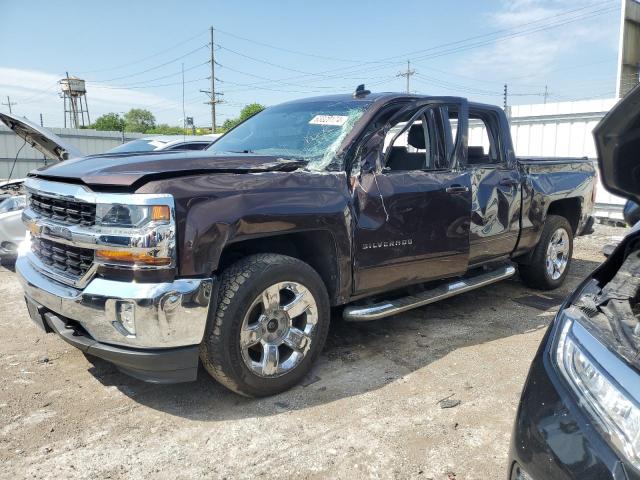
<svg viewBox="0 0 640 480"><path fill-rule="evenodd" d="M93 250L44 238L33 237L31 251L53 271L77 278L84 276L93 263Z"/></svg>

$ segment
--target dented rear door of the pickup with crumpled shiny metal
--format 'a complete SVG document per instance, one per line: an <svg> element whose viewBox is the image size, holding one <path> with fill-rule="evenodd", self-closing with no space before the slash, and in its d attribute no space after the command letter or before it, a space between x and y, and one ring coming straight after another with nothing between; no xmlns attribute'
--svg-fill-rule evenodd
<svg viewBox="0 0 640 480"><path fill-rule="evenodd" d="M504 131L509 131L509 125L501 111L469 108L466 170L472 193L470 265L506 257L518 241L520 174Z"/></svg>

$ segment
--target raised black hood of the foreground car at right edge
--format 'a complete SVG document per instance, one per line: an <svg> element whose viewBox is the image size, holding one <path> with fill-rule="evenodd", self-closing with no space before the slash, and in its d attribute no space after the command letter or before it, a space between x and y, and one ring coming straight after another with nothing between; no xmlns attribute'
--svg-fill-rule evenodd
<svg viewBox="0 0 640 480"><path fill-rule="evenodd" d="M620 100L593 130L602 184L640 201L640 85Z"/></svg>

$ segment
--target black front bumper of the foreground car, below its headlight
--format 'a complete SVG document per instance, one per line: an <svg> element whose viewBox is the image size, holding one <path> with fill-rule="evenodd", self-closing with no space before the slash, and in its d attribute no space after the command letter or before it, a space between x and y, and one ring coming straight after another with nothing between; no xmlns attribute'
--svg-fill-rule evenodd
<svg viewBox="0 0 640 480"><path fill-rule="evenodd" d="M522 391L509 475L517 464L532 480L639 480L640 474L619 458L551 364L556 323L547 331Z"/></svg>

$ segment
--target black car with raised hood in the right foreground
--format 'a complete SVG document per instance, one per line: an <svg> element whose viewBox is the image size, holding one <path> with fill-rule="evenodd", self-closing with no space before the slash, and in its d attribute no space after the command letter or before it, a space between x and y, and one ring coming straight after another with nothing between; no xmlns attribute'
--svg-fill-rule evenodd
<svg viewBox="0 0 640 480"><path fill-rule="evenodd" d="M640 87L594 137L603 185L638 202ZM542 340L511 437L512 480L640 479L639 319L636 223L565 300Z"/></svg>

